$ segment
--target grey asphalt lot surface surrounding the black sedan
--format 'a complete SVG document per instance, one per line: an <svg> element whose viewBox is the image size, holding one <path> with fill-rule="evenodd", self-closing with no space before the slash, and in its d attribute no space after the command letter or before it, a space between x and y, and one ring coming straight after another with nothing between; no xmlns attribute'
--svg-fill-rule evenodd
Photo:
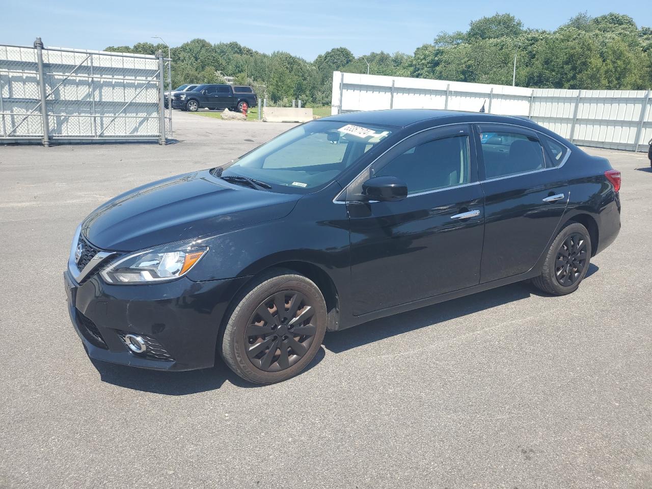
<svg viewBox="0 0 652 489"><path fill-rule="evenodd" d="M575 293L513 284L327 334L299 377L91 363L62 273L115 194L291 125L175 111L166 146L0 146L1 488L652 487L652 173ZM388 284L391 286L391 284Z"/></svg>

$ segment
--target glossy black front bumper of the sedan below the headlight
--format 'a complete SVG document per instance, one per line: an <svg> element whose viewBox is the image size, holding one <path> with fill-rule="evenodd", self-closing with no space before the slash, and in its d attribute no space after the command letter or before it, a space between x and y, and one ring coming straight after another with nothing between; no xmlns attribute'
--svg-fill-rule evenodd
<svg viewBox="0 0 652 489"><path fill-rule="evenodd" d="M226 308L247 277L164 284L110 285L96 274L82 285L68 271L68 314L89 357L157 370L193 370L215 364L216 342ZM125 334L145 338L133 353Z"/></svg>

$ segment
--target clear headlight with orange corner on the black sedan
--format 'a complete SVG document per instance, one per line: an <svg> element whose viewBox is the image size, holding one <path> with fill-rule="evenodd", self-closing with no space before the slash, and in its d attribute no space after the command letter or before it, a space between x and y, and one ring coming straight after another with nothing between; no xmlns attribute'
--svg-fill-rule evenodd
<svg viewBox="0 0 652 489"><path fill-rule="evenodd" d="M208 251L196 243L175 243L129 254L101 275L109 284L151 284L184 276Z"/></svg>

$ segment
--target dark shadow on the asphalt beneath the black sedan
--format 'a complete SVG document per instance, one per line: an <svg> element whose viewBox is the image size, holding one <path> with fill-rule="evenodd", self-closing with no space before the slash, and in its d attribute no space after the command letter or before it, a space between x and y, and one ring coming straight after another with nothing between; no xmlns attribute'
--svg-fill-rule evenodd
<svg viewBox="0 0 652 489"><path fill-rule="evenodd" d="M599 270L591 263L585 278L589 278ZM415 309L387 318L375 319L353 328L326 334L323 347L304 372L319 364L325 357L324 348L333 353L342 353L352 348L369 344L397 334L414 331L423 327L437 325L449 319L461 318L481 310L490 309L503 304L528 299L531 295L546 296L527 282L518 282L496 289L487 290L473 295L473 301L468 297L460 297L433 306ZM185 396L220 389L224 383L249 389L264 387L252 384L234 374L219 358L212 368L190 370L188 372L161 372L130 366L117 365L91 359L93 366L100 374L102 382L134 389L136 391L162 394L166 396Z"/></svg>

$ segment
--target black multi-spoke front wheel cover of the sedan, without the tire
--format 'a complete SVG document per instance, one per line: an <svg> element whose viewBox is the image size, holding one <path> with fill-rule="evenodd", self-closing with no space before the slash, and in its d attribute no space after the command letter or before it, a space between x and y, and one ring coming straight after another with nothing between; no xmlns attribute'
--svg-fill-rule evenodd
<svg viewBox="0 0 652 489"><path fill-rule="evenodd" d="M256 308L244 330L247 356L265 372L297 363L310 349L317 328L310 323L314 306L297 291L277 292Z"/></svg>

